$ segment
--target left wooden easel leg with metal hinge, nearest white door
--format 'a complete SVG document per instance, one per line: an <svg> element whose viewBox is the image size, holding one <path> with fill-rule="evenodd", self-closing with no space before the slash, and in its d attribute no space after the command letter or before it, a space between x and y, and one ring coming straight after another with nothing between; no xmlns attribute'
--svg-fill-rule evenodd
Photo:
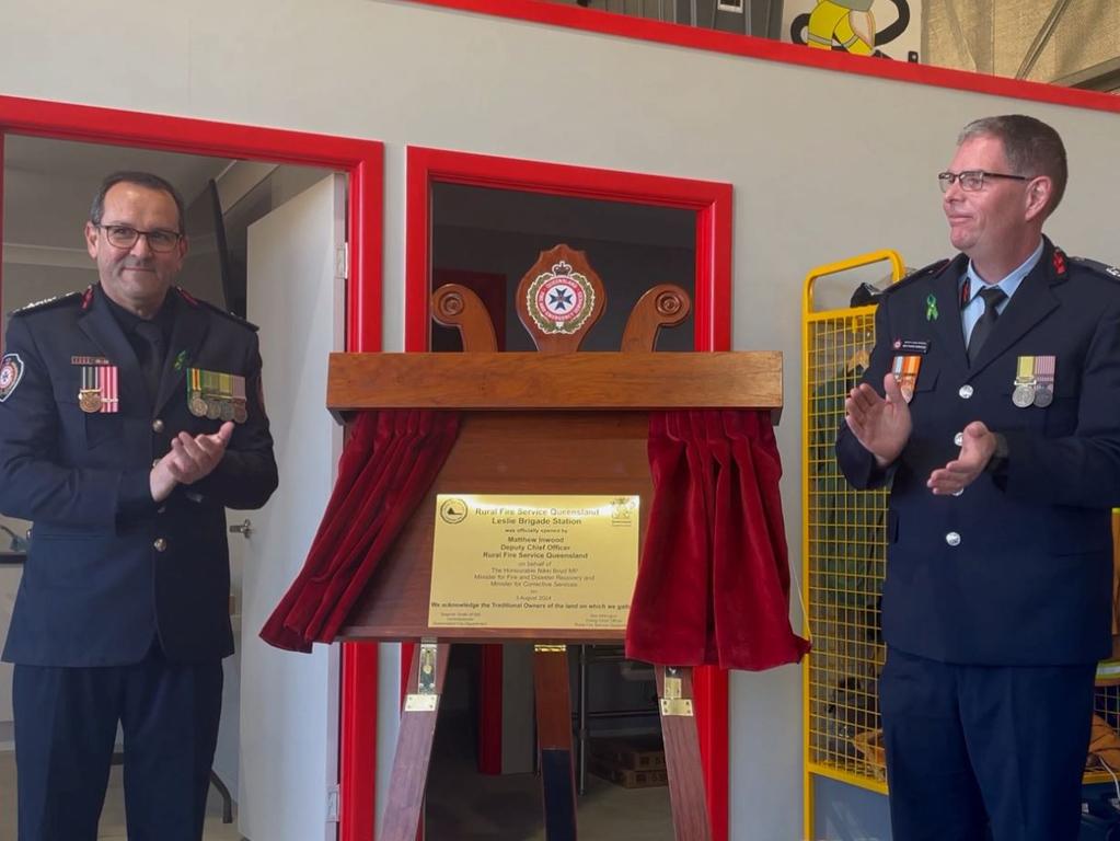
<svg viewBox="0 0 1120 841"><path fill-rule="evenodd" d="M439 698L447 675L447 643L423 642L414 646L411 678L401 730L393 757L393 775L385 801L385 817L379 841L416 841L423 807L424 783L431 761L431 741L436 735Z"/></svg>

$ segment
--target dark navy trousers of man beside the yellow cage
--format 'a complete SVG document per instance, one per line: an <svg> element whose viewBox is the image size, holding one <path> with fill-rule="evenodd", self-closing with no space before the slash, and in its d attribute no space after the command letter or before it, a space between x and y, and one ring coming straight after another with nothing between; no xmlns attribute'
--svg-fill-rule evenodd
<svg viewBox="0 0 1120 841"><path fill-rule="evenodd" d="M879 710L894 841L1076 839L1095 671L890 648Z"/></svg>

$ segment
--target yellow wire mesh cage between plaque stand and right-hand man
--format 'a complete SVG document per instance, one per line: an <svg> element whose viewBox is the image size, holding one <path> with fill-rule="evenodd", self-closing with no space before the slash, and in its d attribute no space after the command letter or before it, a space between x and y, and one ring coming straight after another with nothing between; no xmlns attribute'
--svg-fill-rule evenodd
<svg viewBox="0 0 1120 841"><path fill-rule="evenodd" d="M887 493L851 488L833 451L844 398L875 344L875 305L819 309L816 298L822 279L850 289L856 270L881 262L889 263L890 282L903 275L897 253L877 251L819 267L805 278L802 475L805 608L813 639L804 666L806 775L880 792L877 681L884 660L879 592Z"/></svg>

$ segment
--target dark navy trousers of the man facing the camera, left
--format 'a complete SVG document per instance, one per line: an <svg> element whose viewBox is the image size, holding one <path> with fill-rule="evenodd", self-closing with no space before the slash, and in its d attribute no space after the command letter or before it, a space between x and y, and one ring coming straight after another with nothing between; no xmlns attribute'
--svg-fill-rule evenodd
<svg viewBox="0 0 1120 841"><path fill-rule="evenodd" d="M94 841L116 722L130 841L197 841L222 713L222 661L17 665L19 838Z"/></svg>

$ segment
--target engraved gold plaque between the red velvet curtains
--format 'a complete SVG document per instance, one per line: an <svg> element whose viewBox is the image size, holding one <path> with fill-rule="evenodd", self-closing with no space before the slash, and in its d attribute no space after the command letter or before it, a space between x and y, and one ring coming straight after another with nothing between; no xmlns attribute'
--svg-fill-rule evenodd
<svg viewBox="0 0 1120 841"><path fill-rule="evenodd" d="M622 630L637 538L637 496L440 494L428 625Z"/></svg>

